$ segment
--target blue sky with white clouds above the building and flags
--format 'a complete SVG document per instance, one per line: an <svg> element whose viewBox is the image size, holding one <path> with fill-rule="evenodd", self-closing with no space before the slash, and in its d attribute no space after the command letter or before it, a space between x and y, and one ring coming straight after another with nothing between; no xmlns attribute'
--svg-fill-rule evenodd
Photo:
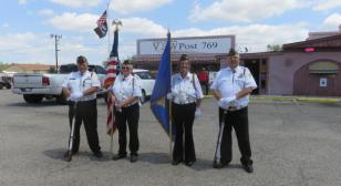
<svg viewBox="0 0 341 186"><path fill-rule="evenodd" d="M60 63L80 54L101 64L108 38L93 29L110 0L2 0L0 62L54 64L61 34ZM136 54L136 40L235 34L237 48L265 51L267 44L302 41L311 31L338 31L340 0L111 0L108 21L120 19L121 59ZM111 38L112 39L112 38Z"/></svg>

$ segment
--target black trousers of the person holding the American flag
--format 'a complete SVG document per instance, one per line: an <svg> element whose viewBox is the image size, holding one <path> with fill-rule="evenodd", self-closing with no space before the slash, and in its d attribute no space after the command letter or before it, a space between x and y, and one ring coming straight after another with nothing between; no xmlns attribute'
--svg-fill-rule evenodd
<svg viewBox="0 0 341 186"><path fill-rule="evenodd" d="M126 123L130 128L130 151L131 155L137 155L140 147L138 142L138 118L140 118L140 105L138 103L122 107L122 112L115 112L115 120L118 130L118 154L122 156L126 155Z"/></svg>

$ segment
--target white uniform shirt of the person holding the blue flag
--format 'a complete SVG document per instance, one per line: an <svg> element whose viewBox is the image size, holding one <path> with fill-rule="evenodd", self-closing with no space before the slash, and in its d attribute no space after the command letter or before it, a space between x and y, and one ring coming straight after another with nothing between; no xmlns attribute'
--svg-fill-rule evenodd
<svg viewBox="0 0 341 186"><path fill-rule="evenodd" d="M188 72L184 79L180 73L172 75L172 100L174 103L188 104L203 97L203 90L196 74Z"/></svg>

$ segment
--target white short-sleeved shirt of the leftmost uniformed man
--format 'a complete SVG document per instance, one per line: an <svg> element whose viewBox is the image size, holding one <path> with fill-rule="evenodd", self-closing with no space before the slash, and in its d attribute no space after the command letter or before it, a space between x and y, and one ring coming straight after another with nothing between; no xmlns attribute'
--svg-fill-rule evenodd
<svg viewBox="0 0 341 186"><path fill-rule="evenodd" d="M70 89L72 94L74 92L83 92L90 87L101 87L101 82L95 72L85 71L84 73L81 73L80 71L78 71L71 72L69 78L62 84L62 87ZM78 101L91 101L94 99L96 99L96 92L90 95L84 95Z"/></svg>

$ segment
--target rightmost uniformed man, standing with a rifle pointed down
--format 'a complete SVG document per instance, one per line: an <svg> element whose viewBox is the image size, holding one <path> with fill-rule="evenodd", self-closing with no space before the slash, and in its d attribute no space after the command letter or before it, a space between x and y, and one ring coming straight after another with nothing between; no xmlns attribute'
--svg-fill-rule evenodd
<svg viewBox="0 0 341 186"><path fill-rule="evenodd" d="M240 162L246 172L252 173L247 106L249 94L257 84L250 71L239 65L239 54L234 49L227 55L227 64L211 84L213 94L219 104L219 134L213 166L223 168L232 159L231 131L235 128Z"/></svg>

